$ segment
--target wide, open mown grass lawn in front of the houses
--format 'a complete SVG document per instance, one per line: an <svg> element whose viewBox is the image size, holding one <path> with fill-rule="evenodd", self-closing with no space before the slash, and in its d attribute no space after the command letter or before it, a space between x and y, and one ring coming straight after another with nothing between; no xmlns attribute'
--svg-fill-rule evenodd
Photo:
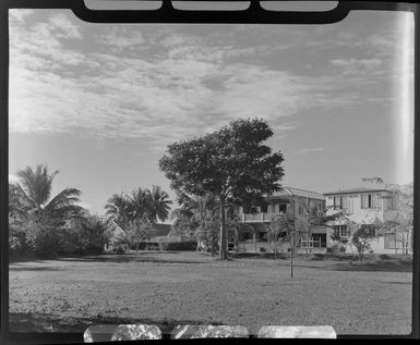
<svg viewBox="0 0 420 345"><path fill-rule="evenodd" d="M139 251L10 264L13 332L84 332L144 322L333 325L338 334L408 334L411 262L370 257L240 256Z"/></svg>

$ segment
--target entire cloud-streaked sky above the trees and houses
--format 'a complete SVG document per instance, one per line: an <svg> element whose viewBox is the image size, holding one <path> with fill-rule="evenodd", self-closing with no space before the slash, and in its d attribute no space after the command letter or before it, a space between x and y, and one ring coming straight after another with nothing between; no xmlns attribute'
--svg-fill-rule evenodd
<svg viewBox="0 0 420 345"><path fill-rule="evenodd" d="M167 145L261 118L281 184L319 193L412 181L412 14L328 25L92 24L10 11L9 178L59 170L101 215L115 193L159 185Z"/></svg>

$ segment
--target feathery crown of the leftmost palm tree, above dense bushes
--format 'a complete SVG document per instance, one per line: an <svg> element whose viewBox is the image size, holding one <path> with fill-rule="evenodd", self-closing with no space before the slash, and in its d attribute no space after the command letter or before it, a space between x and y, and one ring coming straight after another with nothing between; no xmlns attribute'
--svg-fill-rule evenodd
<svg viewBox="0 0 420 345"><path fill-rule="evenodd" d="M35 171L29 167L17 171L15 193L20 196L21 208L37 219L49 218L60 223L80 217L84 209L76 205L81 195L79 189L65 188L50 199L52 181L58 173L48 174L47 167L41 164Z"/></svg>

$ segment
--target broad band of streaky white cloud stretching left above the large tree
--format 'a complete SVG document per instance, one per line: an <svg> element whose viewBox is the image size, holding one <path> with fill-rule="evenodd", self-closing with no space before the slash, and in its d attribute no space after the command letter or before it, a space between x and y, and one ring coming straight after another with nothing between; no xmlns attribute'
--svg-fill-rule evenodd
<svg viewBox="0 0 420 345"><path fill-rule="evenodd" d="M253 48L164 30L154 35L164 44L156 53L151 35L137 29L84 33L62 13L31 29L11 27L10 131L144 138L161 148L239 116L262 116L284 133L295 127L293 121L285 127L285 118L349 102L343 95L332 99L336 77L233 59ZM82 50L68 38L99 48ZM139 53L120 56L128 47Z"/></svg>

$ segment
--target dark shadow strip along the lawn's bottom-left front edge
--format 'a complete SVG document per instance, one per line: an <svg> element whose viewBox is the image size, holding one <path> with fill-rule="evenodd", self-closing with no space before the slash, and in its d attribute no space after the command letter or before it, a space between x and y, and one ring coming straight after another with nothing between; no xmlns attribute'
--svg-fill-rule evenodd
<svg viewBox="0 0 420 345"><path fill-rule="evenodd" d="M98 315L96 317L68 317L61 318L50 313L9 313L10 332L28 332L28 333L84 333L91 325L97 324L154 324L157 325L163 334L170 332L181 324L206 324L221 325L220 322L208 322L205 320L175 320L160 319L154 320L148 318L119 318Z"/></svg>

